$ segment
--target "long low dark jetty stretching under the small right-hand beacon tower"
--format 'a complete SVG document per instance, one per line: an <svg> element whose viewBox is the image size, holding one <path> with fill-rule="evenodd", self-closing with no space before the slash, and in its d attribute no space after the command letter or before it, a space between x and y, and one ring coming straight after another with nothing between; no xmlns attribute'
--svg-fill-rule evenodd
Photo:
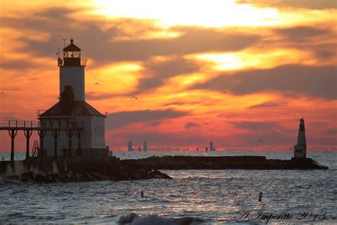
<svg viewBox="0 0 337 225"><path fill-rule="evenodd" d="M264 156L154 156L122 162L142 169L328 169L310 158L282 160Z"/></svg>

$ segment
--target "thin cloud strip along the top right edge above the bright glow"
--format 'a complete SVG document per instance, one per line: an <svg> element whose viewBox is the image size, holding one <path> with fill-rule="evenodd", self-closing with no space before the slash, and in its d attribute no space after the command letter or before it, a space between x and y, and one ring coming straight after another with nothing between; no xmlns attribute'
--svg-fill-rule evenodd
<svg viewBox="0 0 337 225"><path fill-rule="evenodd" d="M305 9L336 9L337 2L335 0L237 0L237 4L252 4L259 7L274 8L305 8Z"/></svg>

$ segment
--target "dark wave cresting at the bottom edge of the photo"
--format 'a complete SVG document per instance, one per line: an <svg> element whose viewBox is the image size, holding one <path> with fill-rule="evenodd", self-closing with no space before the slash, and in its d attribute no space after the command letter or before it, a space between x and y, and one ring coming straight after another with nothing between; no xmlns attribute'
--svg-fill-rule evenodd
<svg viewBox="0 0 337 225"><path fill-rule="evenodd" d="M146 216L139 216L138 214L127 214L124 216L119 216L117 224L130 224L130 225L188 225L188 224L204 224L207 221L203 219L194 218L191 216L186 216L182 218L168 218L164 216L158 216L156 214L150 214Z"/></svg>

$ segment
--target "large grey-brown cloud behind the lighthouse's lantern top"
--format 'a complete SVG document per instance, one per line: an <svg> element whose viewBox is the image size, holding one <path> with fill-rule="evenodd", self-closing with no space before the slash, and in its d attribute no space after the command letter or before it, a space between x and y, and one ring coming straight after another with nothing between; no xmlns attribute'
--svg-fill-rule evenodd
<svg viewBox="0 0 337 225"><path fill-rule="evenodd" d="M80 9L82 10L82 9ZM35 56L55 56L62 39L73 36L74 43L82 48L82 56L89 56L97 65L112 61L141 61L153 56L182 56L191 53L208 51L238 51L251 46L260 36L234 31L232 29L216 29L204 27L176 26L169 30L155 26L154 21L139 19L94 19L87 16L85 20L71 16L80 13L75 9L49 8L32 12L24 18L2 17L1 23L16 29L32 29L38 33L49 33L48 39L37 41L22 37L27 43L21 51L35 51ZM33 15L33 14L36 15ZM123 26L121 26L121 23ZM131 25L130 25L131 23ZM102 28L107 26L108 28ZM120 36L128 36L124 26L144 27L144 31L173 31L181 33L176 38L133 38L121 40Z"/></svg>

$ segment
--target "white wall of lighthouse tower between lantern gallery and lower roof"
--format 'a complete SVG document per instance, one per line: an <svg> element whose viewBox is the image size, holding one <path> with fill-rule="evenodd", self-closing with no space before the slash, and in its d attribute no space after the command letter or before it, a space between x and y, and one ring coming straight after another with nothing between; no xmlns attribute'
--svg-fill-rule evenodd
<svg viewBox="0 0 337 225"><path fill-rule="evenodd" d="M65 85L73 86L74 100L85 100L85 67L60 66L60 95Z"/></svg>

